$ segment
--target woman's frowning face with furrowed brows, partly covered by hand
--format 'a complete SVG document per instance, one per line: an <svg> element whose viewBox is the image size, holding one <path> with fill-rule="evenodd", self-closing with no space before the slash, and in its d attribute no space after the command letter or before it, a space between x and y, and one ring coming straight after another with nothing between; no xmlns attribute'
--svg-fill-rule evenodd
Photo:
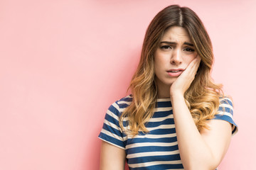
<svg viewBox="0 0 256 170"><path fill-rule="evenodd" d="M166 30L154 53L158 89L170 88L196 56L197 52L185 28L172 26Z"/></svg>

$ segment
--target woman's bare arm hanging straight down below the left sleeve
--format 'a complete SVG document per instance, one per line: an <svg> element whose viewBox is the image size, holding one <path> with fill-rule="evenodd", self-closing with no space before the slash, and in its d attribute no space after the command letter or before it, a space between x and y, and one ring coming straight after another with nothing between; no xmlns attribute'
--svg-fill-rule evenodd
<svg viewBox="0 0 256 170"><path fill-rule="evenodd" d="M100 170L124 170L125 151L102 141L100 154Z"/></svg>

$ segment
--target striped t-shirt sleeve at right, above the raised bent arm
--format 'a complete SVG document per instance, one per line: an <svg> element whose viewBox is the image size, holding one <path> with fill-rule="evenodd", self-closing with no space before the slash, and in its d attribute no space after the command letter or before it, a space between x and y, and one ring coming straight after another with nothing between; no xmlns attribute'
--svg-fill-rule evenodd
<svg viewBox="0 0 256 170"><path fill-rule="evenodd" d="M220 106L218 109L218 114L215 115L217 120L225 120L232 125L232 135L235 135L238 132L238 125L235 124L233 119L233 103L230 98L220 98Z"/></svg>

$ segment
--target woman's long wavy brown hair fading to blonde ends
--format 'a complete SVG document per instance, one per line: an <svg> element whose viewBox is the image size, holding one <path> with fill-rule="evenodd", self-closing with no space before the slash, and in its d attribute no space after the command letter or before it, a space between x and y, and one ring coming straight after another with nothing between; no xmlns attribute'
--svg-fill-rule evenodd
<svg viewBox="0 0 256 170"><path fill-rule="evenodd" d="M146 30L142 54L137 71L132 77L129 89L132 103L120 116L119 125L129 135L146 130L145 123L153 116L157 103L157 87L154 74L154 52L159 47L164 32L171 26L180 26L188 31L196 52L201 57L198 72L191 86L184 94L186 105L191 112L198 130L208 128L206 120L218 112L219 97L223 96L222 86L214 84L210 77L213 66L213 47L206 28L194 11L178 5L167 6L151 21ZM124 118L129 129L124 129Z"/></svg>

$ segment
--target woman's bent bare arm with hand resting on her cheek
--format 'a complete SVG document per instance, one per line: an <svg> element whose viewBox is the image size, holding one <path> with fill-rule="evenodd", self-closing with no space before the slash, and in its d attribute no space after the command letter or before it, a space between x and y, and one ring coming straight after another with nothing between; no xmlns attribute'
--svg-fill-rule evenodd
<svg viewBox="0 0 256 170"><path fill-rule="evenodd" d="M171 85L170 96L176 125L181 161L185 169L215 169L228 149L231 125L223 120L209 120L210 130L198 132L183 94L191 85L200 63L199 57Z"/></svg>

